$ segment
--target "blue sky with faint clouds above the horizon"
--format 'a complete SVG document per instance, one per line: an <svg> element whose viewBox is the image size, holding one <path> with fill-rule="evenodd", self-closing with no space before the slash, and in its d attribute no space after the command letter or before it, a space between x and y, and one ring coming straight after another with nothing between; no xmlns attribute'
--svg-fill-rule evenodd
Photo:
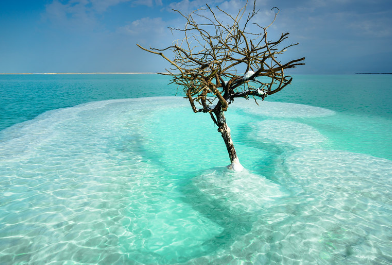
<svg viewBox="0 0 392 265"><path fill-rule="evenodd" d="M187 14L205 6L236 12L244 0L1 0L0 73L163 72L168 64L139 49L177 39ZM391 0L258 0L256 21L270 36L299 43L296 74L392 72ZM170 57L170 53L167 54ZM286 58L285 57L285 58Z"/></svg>

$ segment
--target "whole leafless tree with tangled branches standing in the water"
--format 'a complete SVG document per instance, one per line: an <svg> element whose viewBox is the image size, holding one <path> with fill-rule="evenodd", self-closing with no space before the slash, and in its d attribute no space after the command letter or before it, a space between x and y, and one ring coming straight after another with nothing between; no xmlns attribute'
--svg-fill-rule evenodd
<svg viewBox="0 0 392 265"><path fill-rule="evenodd" d="M264 100L266 96L279 92L292 81L292 77L286 76L284 71L303 65L305 59L286 63L278 61L279 55L298 43L278 47L289 33L282 34L275 41L268 40L267 29L275 21L278 8L273 8L276 12L272 23L262 27L251 23L259 11L256 10L256 0L248 13L247 5L248 2L235 16L209 5L187 16L174 10L186 19L183 29L172 28L184 34L182 40L164 49L146 49L137 44L171 64L172 68L166 69L164 74L170 75L172 83L183 88L195 113L210 114L225 142L231 161L229 168L233 170L242 170L243 167L224 112L235 98L253 97L257 104L257 98ZM173 53L173 59L164 54L167 51Z"/></svg>

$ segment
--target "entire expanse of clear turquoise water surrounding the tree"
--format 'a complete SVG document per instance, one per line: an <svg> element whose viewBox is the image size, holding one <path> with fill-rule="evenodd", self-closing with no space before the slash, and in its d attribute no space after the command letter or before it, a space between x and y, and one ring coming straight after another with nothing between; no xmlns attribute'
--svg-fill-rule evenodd
<svg viewBox="0 0 392 265"><path fill-rule="evenodd" d="M391 81L236 100L233 173L166 77L0 76L0 263L392 263Z"/></svg>

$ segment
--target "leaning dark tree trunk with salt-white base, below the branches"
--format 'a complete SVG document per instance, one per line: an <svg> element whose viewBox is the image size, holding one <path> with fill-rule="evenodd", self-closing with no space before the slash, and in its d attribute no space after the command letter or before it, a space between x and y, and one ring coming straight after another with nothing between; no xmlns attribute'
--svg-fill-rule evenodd
<svg viewBox="0 0 392 265"><path fill-rule="evenodd" d="M234 171L241 171L244 167L240 164L237 153L234 148L233 140L231 139L230 128L226 124L225 115L222 110L219 111L217 116L218 131L221 133L223 141L225 142L227 152L229 153L231 164L228 166L229 169Z"/></svg>

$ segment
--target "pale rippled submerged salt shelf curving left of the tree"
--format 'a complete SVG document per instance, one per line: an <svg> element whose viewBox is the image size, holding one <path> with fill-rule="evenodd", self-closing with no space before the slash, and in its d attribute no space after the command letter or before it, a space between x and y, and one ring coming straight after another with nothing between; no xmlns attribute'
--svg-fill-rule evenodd
<svg viewBox="0 0 392 265"><path fill-rule="evenodd" d="M4 132L3 262L167 263L211 251L200 245L221 228L181 202L165 171L143 157L139 130L151 105L182 103L89 103Z"/></svg>

